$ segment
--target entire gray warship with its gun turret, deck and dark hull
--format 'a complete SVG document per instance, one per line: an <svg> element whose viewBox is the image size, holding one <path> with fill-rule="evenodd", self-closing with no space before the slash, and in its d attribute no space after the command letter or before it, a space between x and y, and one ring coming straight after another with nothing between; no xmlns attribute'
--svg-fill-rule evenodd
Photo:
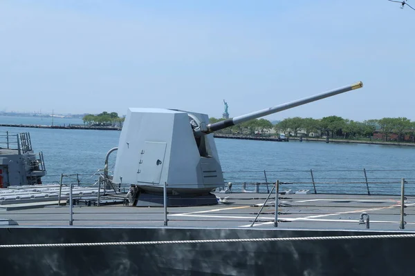
<svg viewBox="0 0 415 276"><path fill-rule="evenodd" d="M104 175L92 186L64 184L63 175L58 184L42 184L46 174L42 152L33 153L30 135L16 135L17 148L8 144L0 149L2 273L410 272L415 234L403 232L403 221L400 230L379 223L399 207L390 197L284 195L278 181L270 183L273 188L268 193L233 193L230 185L221 190L225 183L212 132L358 88L361 82L215 124L197 112L130 108L118 147L109 150ZM117 152L116 167L109 175L112 152ZM315 206L314 201L321 203ZM374 201L377 208L370 209ZM403 197L404 201L401 210L412 205L411 198ZM320 215L294 213L291 209L299 202L304 210L317 209ZM335 220L309 224L333 215L329 203L338 204L335 214L360 216L358 223L353 228ZM284 213L283 208L288 211ZM374 216L362 211L369 209ZM259 215L264 217L259 219ZM378 230L371 230L370 225L376 223Z"/></svg>

